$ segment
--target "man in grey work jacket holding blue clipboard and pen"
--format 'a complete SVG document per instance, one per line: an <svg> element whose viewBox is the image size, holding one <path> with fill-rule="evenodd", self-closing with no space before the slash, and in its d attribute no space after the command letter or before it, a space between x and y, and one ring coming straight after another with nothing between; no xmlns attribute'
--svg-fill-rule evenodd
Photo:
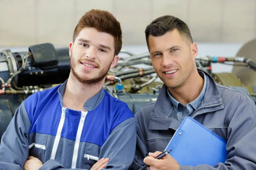
<svg viewBox="0 0 256 170"><path fill-rule="evenodd" d="M239 91L216 84L207 72L196 68L198 47L182 20L159 17L147 26L145 36L152 65L164 85L157 100L135 114L137 148L130 169L148 164L150 170L255 170L254 102ZM155 159L186 116L227 140L225 163L215 167L179 165L169 154Z"/></svg>

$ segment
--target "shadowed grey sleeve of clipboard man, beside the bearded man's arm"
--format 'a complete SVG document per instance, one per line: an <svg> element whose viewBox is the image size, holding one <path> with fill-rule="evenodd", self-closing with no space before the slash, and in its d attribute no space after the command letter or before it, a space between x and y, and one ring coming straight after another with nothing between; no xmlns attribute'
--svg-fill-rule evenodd
<svg viewBox="0 0 256 170"><path fill-rule="evenodd" d="M137 144L134 156L134 161L129 170L138 170L145 165L144 158L148 156L148 147L146 144L145 130L143 127L143 109L141 108L136 114L137 120ZM141 119L140 119L141 118Z"/></svg>

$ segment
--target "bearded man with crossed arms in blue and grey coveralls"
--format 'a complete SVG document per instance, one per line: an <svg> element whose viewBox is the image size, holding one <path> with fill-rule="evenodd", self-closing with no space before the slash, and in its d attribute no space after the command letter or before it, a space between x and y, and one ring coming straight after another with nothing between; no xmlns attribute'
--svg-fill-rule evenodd
<svg viewBox="0 0 256 170"><path fill-rule="evenodd" d="M128 169L136 121L103 89L121 47L120 23L111 13L91 10L81 17L69 44L69 78L20 105L2 137L0 169Z"/></svg>

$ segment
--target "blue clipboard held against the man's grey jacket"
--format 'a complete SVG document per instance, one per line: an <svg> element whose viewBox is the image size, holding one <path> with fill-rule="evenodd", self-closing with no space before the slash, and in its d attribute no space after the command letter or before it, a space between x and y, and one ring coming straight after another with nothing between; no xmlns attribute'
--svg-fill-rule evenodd
<svg viewBox="0 0 256 170"><path fill-rule="evenodd" d="M227 141L195 119L187 116L176 130L166 150L180 165L197 166L224 163L227 159Z"/></svg>

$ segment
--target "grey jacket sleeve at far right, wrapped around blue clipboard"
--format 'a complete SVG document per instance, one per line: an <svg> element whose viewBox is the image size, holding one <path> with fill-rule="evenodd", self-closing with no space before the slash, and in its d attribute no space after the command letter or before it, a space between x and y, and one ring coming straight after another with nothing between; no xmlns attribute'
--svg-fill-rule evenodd
<svg viewBox="0 0 256 170"><path fill-rule="evenodd" d="M214 167L180 165L180 170L256 170L256 105L250 99L236 109L227 130L227 160Z"/></svg>

